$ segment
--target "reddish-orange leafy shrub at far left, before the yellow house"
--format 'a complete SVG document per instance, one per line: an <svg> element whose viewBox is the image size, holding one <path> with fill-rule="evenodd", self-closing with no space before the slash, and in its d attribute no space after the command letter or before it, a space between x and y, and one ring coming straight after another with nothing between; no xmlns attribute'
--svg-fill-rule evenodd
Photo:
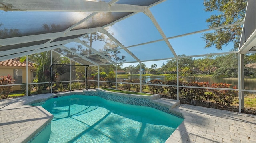
<svg viewBox="0 0 256 143"><path fill-rule="evenodd" d="M8 84L14 84L15 80L12 78L12 76L0 76L0 85L8 85ZM0 96L1 99L8 98L8 94L12 92L13 86L0 86Z"/></svg>

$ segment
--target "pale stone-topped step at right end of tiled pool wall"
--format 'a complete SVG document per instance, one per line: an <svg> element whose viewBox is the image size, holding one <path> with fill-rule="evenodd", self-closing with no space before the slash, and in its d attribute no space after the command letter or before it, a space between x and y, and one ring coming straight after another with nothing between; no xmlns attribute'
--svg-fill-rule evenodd
<svg viewBox="0 0 256 143"><path fill-rule="evenodd" d="M180 104L180 100L167 99L167 98L157 98L154 100L150 100L150 102L164 106L164 107L168 107L170 109L172 109L175 106L177 106L178 104Z"/></svg>

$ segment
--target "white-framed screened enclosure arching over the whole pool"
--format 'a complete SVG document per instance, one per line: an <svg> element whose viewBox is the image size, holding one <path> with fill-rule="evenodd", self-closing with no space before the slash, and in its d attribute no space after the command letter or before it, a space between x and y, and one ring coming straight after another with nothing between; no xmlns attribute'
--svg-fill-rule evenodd
<svg viewBox="0 0 256 143"><path fill-rule="evenodd" d="M12 84L14 88L25 86L28 95L30 86L47 86L49 92L54 92L59 84L68 90L76 90L79 89L76 83L80 83L85 89L88 86L86 80L91 88L100 88L104 83L118 88L121 84L130 84L117 80L118 67L128 67L129 64L140 65L139 80L133 84L142 92L144 86L152 85L142 80L143 63L164 65L167 60L175 61L172 72L176 73L176 83L161 86L176 87L177 100L179 88L233 90L239 92L241 112L244 92L256 92L256 89L244 86L244 55L256 53L256 0L248 0L243 21L210 28L206 19L216 13L206 13L202 3L200 0L0 0L0 62L18 58L28 65L36 59L36 68L30 70L26 66L19 75L21 82ZM234 26L242 27L238 50L233 50L232 43L221 50L204 48L206 43L202 35ZM41 57L38 53L42 53ZM236 57L236 89L179 85L179 67L186 64L180 61L216 58L218 55ZM51 71L44 70L41 74L48 77L36 80L38 75L33 72L52 64L66 64L66 67L53 66L52 84ZM88 65L88 71L86 67L76 65ZM0 68L0 75L7 76L3 75L4 68ZM114 81L102 80L101 69L107 68L116 74ZM86 74L90 75L87 79Z"/></svg>

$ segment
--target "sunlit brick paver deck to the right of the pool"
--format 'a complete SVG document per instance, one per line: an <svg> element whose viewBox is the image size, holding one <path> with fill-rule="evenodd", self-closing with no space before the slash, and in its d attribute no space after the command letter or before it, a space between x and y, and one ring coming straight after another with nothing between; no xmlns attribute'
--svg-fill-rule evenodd
<svg viewBox="0 0 256 143"><path fill-rule="evenodd" d="M166 143L256 143L256 115L180 104L185 117Z"/></svg>

